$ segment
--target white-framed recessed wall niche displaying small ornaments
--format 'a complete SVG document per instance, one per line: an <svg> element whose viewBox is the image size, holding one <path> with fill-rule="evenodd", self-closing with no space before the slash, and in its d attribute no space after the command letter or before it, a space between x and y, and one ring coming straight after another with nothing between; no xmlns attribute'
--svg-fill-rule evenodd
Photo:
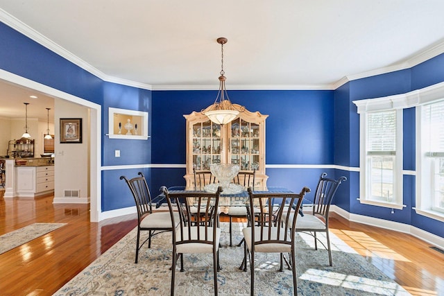
<svg viewBox="0 0 444 296"><path fill-rule="evenodd" d="M107 135L110 139L148 139L148 112L109 107Z"/></svg>

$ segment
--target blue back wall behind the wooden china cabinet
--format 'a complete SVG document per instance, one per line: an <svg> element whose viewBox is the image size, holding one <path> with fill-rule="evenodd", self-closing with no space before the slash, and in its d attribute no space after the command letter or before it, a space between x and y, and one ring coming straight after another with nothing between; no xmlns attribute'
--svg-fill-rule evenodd
<svg viewBox="0 0 444 296"><path fill-rule="evenodd" d="M157 110L152 125L153 164L185 164L183 115L211 105L216 94L216 91L153 92L153 110ZM334 163L333 91L229 91L229 94L233 103L268 115L266 164ZM295 191L307 184L314 188L322 170L310 171L267 169L267 184ZM185 168L155 168L152 189L157 191L162 185L185 186L184 175Z"/></svg>

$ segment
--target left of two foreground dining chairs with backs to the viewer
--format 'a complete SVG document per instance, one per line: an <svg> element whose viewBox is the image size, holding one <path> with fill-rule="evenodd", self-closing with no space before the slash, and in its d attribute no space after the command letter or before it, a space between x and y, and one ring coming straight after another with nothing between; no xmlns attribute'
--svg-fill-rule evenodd
<svg viewBox="0 0 444 296"><path fill-rule="evenodd" d="M183 254L212 253L214 295L217 295L217 272L219 266L219 241L221 229L217 223L206 223L216 220L219 196L222 188L219 186L216 193L184 191L169 193L167 187L161 189L167 198L168 208L173 223L178 223L178 229L173 232L173 264L171 267L171 295L174 295L176 275L176 261L180 258L180 271L184 271ZM191 209L202 209L201 215L193 215ZM175 213L179 213L176 217Z"/></svg>

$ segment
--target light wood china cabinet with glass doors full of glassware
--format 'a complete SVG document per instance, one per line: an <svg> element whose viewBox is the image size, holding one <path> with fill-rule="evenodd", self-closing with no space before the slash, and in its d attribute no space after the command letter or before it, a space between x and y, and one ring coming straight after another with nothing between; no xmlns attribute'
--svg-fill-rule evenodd
<svg viewBox="0 0 444 296"><path fill-rule="evenodd" d="M245 110L225 125L212 123L202 112L184 116L187 119L187 189L194 189L193 168L210 170L210 164L218 163L238 164L241 171L256 169L255 189L266 189L265 119L268 115Z"/></svg>

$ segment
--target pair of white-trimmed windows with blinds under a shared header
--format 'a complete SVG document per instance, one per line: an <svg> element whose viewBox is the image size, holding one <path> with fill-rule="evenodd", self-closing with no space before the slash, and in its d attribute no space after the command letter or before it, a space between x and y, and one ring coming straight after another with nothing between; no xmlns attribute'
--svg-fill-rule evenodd
<svg viewBox="0 0 444 296"><path fill-rule="evenodd" d="M361 203L393 209L404 207L402 110L416 107L416 171L405 171L416 175L413 209L416 214L444 222L444 82L406 94L353 103L360 115ZM391 120L391 112L395 112L395 121ZM393 122L396 139L392 147Z"/></svg>

